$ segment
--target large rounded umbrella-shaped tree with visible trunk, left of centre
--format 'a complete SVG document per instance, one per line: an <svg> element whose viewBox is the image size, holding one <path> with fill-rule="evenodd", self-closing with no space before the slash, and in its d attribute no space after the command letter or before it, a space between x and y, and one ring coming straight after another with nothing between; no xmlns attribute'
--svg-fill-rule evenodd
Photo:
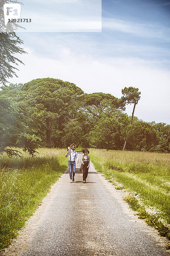
<svg viewBox="0 0 170 256"><path fill-rule="evenodd" d="M70 120L77 112L83 91L73 83L59 79L35 79L23 85L30 106L32 125L46 132L46 142L51 147L52 125L57 120Z"/></svg>

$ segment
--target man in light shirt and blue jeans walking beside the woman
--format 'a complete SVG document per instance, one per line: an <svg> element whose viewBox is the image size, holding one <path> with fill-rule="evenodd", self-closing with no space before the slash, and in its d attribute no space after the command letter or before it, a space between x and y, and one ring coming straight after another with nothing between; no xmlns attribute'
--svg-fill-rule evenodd
<svg viewBox="0 0 170 256"><path fill-rule="evenodd" d="M69 174L70 174L70 183L74 182L74 175L76 169L76 160L79 163L78 154L75 151L76 145L73 143L70 145L70 150L67 151L65 157L68 157L68 167L69 167ZM72 176L73 174L73 176Z"/></svg>

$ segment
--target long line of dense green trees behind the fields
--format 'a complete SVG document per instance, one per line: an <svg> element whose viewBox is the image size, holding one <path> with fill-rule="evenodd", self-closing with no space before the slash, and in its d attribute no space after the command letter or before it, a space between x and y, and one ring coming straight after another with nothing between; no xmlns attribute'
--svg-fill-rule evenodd
<svg viewBox="0 0 170 256"><path fill-rule="evenodd" d="M106 93L87 94L59 79L3 86L0 152L7 151L10 156L14 151L9 146L19 146L34 154L38 145L65 147L72 142L122 150L125 140L127 150L170 152L170 125L136 117L130 125L131 117L124 113L127 103L137 104L125 96L118 99Z"/></svg>

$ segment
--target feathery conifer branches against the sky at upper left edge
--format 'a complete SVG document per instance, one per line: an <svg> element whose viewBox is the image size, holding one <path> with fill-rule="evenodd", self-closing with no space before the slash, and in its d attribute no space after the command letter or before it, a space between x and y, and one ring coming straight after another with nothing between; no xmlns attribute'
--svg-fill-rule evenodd
<svg viewBox="0 0 170 256"><path fill-rule="evenodd" d="M1 0L0 1L0 84L5 85L8 82L8 78L17 76L16 70L18 63L22 63L14 55L16 53L23 54L26 53L22 48L19 47L23 44L23 41L16 35L14 30L20 27L17 23L11 22L5 26L4 16L3 16L3 5L4 3L18 3L11 0Z"/></svg>

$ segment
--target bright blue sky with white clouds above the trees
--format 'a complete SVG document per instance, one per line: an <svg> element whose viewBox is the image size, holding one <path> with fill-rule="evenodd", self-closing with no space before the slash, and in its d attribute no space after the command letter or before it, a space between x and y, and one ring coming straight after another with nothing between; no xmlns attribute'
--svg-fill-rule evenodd
<svg viewBox="0 0 170 256"><path fill-rule="evenodd" d="M29 4L22 10L27 7L26 15L33 21L37 15L38 22L31 23L27 32L17 32L28 54L18 56L25 65L19 65L18 78L11 83L50 77L72 82L85 93L118 98L124 87L137 87L141 99L135 116L170 124L170 0L102 0L102 5L100 0L30 0ZM50 32L50 23L45 26L48 19L53 24ZM132 111L133 105L127 105L125 113Z"/></svg>

